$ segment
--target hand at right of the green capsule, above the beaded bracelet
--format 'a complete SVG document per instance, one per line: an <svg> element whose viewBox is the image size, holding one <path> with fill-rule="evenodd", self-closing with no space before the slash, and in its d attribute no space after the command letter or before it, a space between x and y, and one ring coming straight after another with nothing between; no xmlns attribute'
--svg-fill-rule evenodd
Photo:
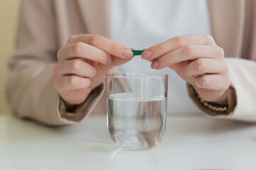
<svg viewBox="0 0 256 170"><path fill-rule="evenodd" d="M225 103L230 86L224 52L211 35L184 35L149 47L142 58L152 69L169 67L193 85L205 101Z"/></svg>

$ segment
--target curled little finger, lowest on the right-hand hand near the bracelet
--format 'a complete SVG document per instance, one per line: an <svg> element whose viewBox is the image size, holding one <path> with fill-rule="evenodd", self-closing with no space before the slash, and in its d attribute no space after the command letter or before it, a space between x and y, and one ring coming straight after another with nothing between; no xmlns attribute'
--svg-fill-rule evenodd
<svg viewBox="0 0 256 170"><path fill-rule="evenodd" d="M206 74L196 77L194 83L201 89L224 91L230 86L230 79L228 75Z"/></svg>

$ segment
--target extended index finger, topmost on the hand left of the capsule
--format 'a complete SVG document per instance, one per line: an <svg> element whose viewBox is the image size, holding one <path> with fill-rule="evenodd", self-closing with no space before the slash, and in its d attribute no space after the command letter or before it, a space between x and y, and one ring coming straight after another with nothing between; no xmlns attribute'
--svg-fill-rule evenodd
<svg viewBox="0 0 256 170"><path fill-rule="evenodd" d="M94 47L100 48L105 52L109 52L111 55L120 57L120 58L132 58L133 53L126 47L125 45L119 44L117 42L113 42L105 37L100 35L90 35L90 34L80 34L73 35L68 39L67 44L75 43L75 42L85 42Z"/></svg>

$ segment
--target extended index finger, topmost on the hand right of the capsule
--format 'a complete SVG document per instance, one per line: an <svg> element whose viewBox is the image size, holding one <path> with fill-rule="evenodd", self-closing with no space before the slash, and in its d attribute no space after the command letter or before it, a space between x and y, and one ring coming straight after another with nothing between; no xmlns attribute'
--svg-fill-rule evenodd
<svg viewBox="0 0 256 170"><path fill-rule="evenodd" d="M211 35L183 35L161 42L158 45L149 47L142 53L142 58L154 60L161 55L176 50L184 45L216 45Z"/></svg>

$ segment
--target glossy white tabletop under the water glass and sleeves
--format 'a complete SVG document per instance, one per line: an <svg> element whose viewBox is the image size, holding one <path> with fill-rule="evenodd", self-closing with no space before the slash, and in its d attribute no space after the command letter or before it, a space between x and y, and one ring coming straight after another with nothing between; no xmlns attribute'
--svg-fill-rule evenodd
<svg viewBox="0 0 256 170"><path fill-rule="evenodd" d="M0 116L0 169L256 169L256 124L173 115L159 147L119 150L105 117L50 128Z"/></svg>

